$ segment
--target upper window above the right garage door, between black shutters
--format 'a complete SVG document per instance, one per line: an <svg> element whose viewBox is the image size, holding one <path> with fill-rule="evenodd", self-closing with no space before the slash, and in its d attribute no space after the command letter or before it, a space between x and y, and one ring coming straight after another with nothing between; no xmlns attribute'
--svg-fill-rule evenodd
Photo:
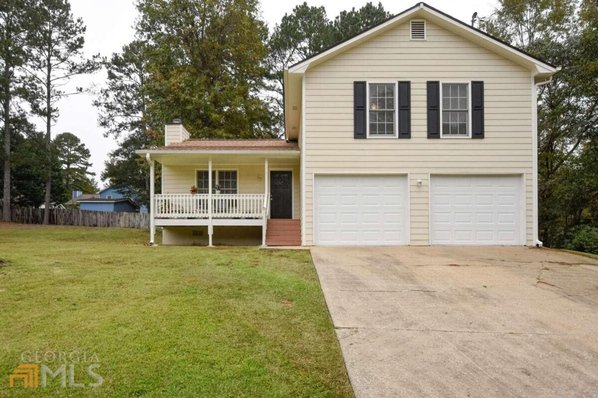
<svg viewBox="0 0 598 398"><path fill-rule="evenodd" d="M442 84L442 137L469 137L468 84Z"/></svg>

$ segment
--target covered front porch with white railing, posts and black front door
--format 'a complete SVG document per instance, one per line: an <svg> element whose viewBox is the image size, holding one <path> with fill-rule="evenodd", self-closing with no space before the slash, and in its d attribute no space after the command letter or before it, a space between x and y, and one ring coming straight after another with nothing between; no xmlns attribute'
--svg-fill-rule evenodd
<svg viewBox="0 0 598 398"><path fill-rule="evenodd" d="M295 220L299 225L296 144L293 148L296 150L208 151L196 147L213 145L215 141L227 141L227 144L249 141L255 146L255 141L261 140L187 140L184 143L189 141L194 150L175 149L171 144L141 153L149 162L151 178L155 162L161 163L161 193L150 193L152 244L155 227L164 229L163 244L212 246L235 244L233 242L266 245L267 236L273 233L279 242L279 232L268 232L271 218ZM264 141L277 141L276 145L280 146L282 140ZM171 147L172 150L168 150ZM192 187L197 193L190 193ZM300 232L297 235L300 239Z"/></svg>

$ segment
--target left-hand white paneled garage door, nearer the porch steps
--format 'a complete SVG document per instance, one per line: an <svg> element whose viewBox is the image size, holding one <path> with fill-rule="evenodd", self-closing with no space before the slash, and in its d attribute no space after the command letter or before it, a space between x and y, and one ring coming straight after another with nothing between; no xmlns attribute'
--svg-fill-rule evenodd
<svg viewBox="0 0 598 398"><path fill-rule="evenodd" d="M406 176L315 179L316 245L407 245Z"/></svg>

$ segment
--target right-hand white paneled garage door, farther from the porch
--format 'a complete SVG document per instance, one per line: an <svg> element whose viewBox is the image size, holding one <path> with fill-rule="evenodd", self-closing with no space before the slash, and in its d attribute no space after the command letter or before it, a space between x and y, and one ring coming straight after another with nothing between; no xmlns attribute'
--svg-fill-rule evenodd
<svg viewBox="0 0 598 398"><path fill-rule="evenodd" d="M432 245L523 245L524 196L517 175L432 175Z"/></svg>

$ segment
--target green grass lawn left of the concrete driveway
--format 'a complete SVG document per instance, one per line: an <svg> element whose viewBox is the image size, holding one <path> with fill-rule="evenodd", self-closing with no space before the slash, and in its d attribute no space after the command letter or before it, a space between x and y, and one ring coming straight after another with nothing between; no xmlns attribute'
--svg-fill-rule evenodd
<svg viewBox="0 0 598 398"><path fill-rule="evenodd" d="M353 396L309 252L147 240L0 227L0 397ZM22 351L95 352L103 384L9 388Z"/></svg>

